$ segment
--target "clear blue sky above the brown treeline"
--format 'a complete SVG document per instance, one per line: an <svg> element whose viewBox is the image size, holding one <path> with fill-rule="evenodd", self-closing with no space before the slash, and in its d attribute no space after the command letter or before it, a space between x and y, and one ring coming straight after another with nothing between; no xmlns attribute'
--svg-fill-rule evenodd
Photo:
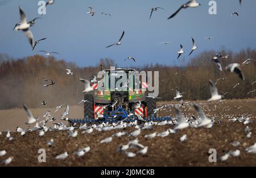
<svg viewBox="0 0 256 178"><path fill-rule="evenodd" d="M0 0L0 2L3 0ZM179 45L185 52L192 48L193 36L196 40L197 53L204 50L226 49L234 52L247 47L256 48L256 1L218 0L217 15L208 13L208 0L199 0L201 6L196 9L181 10L173 19L167 20L182 3L187 0L56 0L48 6L47 15L38 19L31 31L35 39L46 37L35 51L27 42L26 36L13 31L19 22L18 6L22 6L28 20L40 16L37 0L13 0L0 6L1 34L0 53L13 57L31 56L39 50L56 51L57 59L72 61L82 67L96 65L101 58L111 58L122 66L132 65L133 61L123 61L127 56L137 59L136 65L160 63L179 64L176 60ZM88 6L93 7L96 15L86 14ZM163 7L152 14L152 7ZM101 12L112 14L111 17ZM240 17L230 19L230 14L237 11ZM105 48L116 42L125 30L122 45ZM213 40L203 39L214 36ZM159 42L171 41L168 45ZM183 59L180 58L180 60Z"/></svg>

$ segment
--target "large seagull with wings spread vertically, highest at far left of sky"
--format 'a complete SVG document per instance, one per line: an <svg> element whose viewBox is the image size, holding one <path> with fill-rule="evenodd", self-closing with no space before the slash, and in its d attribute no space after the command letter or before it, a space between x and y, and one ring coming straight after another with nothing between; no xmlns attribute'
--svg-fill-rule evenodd
<svg viewBox="0 0 256 178"><path fill-rule="evenodd" d="M19 6L19 14L20 14L20 24L19 26L16 26L14 29L16 31L22 30L24 34L27 36L28 42L30 42L31 47L33 47L34 37L32 32L29 30L29 27L31 26L31 24L27 23L27 16L20 6Z"/></svg>

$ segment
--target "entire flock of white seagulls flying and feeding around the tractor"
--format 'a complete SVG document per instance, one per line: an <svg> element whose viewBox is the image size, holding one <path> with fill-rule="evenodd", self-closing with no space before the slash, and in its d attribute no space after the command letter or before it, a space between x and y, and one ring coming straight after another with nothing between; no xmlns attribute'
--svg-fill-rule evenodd
<svg viewBox="0 0 256 178"><path fill-rule="evenodd" d="M241 2L242 1L240 0L240 3ZM46 5L53 5L53 3L54 3L54 1L50 0L50 1L47 2ZM168 19L174 18L174 16L176 16L182 9L187 9L188 7L189 8L195 8L195 7L199 7L199 6L200 6L200 3L198 3L196 0L191 0L191 1L181 5L180 8L177 9L177 11L175 11L175 13L172 14ZM158 9L164 10L162 7L152 8L151 13L150 13L150 19L151 19L152 13L157 11ZM32 35L32 32L30 31L30 27L34 26L35 20L40 19L40 18L35 18L35 19L27 22L26 14L24 13L24 11L21 7L19 7L19 13L20 13L20 22L15 24L14 30L23 31L24 34L28 38L28 41L29 41L29 43L32 47L32 50L34 50L37 44L39 44L43 40L47 39L47 38L42 38L42 39L36 40L34 42L34 37ZM88 14L93 16L96 13L93 11L92 7L89 7ZM104 13L104 12L102 12L101 14L111 16L110 14ZM239 16L238 13L236 13L236 12L232 13L232 16L233 15ZM122 40L124 35L125 35L125 31L122 32L122 35L119 38L118 42L115 42L111 45L108 45L106 48L112 47L114 45L121 45L122 44L121 40ZM205 39L209 39L209 40L212 39L212 38L213 37L205 37ZM168 43L171 43L171 42L162 42L160 44L168 44ZM193 43L193 45L192 45L192 49L191 49L191 52L189 53L189 55L191 55L197 49L196 42L195 42L194 38L192 38L192 43ZM47 52L47 51L39 51L39 52L43 52L47 56L49 56L51 54L59 54L57 52ZM177 54L178 54L177 59L179 59L179 57L183 53L185 53L184 49L183 49L183 45L180 45L180 49L177 52ZM219 71L222 71L222 65L220 63L220 59L221 58L222 59L228 59L228 57L229 57L229 55L224 56L224 55L221 54L221 52L216 54L213 57L212 61L214 61L214 63L216 64ZM125 60L133 60L134 62L136 61L134 57L127 57ZM246 65L246 64L249 64L253 61L256 61L256 60L247 59L246 61L244 61L242 63L242 66ZM241 64L238 64L238 63L229 64L229 65L226 66L225 69L232 72L232 73L236 73L237 76L241 78L241 80L243 80L243 81L245 80L245 76L243 75L242 70L241 70ZM66 69L66 71L67 71L68 75L73 74L71 69ZM47 79L47 78L42 78L42 79L44 81L43 86L45 86L45 87L56 84L56 82L54 82L51 79ZM220 95L218 93L217 84L218 84L218 82L225 81L227 79L228 78L218 78L216 82L213 82L212 80L209 80L209 89L210 89L211 97L209 98L209 100L207 100L208 102L218 101L218 100L224 101L224 100L222 100L222 98L227 94L227 92L222 92L223 95ZM94 77L93 80L96 81L96 77ZM88 80L80 78L80 81L84 82L84 85L85 85L85 90L83 92L89 92L89 91L93 90L92 86L90 86L90 82ZM254 85L255 83L256 83L256 81L254 81L251 85ZM233 89L236 88L239 85L242 85L242 84L241 83L236 84L233 87ZM180 106L183 106L184 103L183 103L183 95L182 94L184 94L184 93L181 93L179 91L179 89L177 89L177 88L175 88L175 90L176 90L176 97L174 97L174 100L179 101L180 104L181 104ZM247 94L254 93L255 91L256 90L252 90ZM158 97L155 97L155 96L147 96L147 97L158 98ZM82 100L82 101L79 102L79 104L84 103L84 102L88 102L88 101ZM47 102L42 101L41 104L46 105ZM115 104L117 104L117 103L115 103ZM106 109L106 107L110 107L110 106L114 107L115 104L106 105L106 106L104 106L104 109ZM163 131L162 133L154 132L154 133L151 133L151 134L144 135L144 138L153 139L156 136L165 137L165 136L168 136L169 134L176 134L179 130L186 129L188 127L193 127L193 128L207 127L208 129L213 127L214 122L215 122L215 117L212 117L212 118L207 117L207 115L204 113L203 109L201 109L199 107L199 105L196 105L195 103L190 104L190 103L187 102L185 104L187 104L189 106L193 106L196 113L198 114L198 117L194 117L193 115L191 117L184 117L183 114L181 113L180 108L179 108L180 106L179 105L174 105L174 106L171 106L171 107L175 110L176 118L172 119L172 121L163 121L163 122L152 122L151 121L151 122L143 122L141 125L139 125L138 121L127 123L127 122L125 122L125 120L123 120L123 121L120 121L118 123L101 123L101 124L98 124L98 125L94 124L94 125L90 125L90 126L87 126L86 124L79 125L79 126L76 126L76 125L66 126L63 123L63 121L69 121L69 118L68 118L69 105L61 104L59 106L56 106L55 113L65 106L65 110L64 110L63 114L60 115L60 118L59 118L61 120L61 122L56 123L55 122L56 118L53 117L53 115L51 115L51 111L47 111L47 113L43 116L44 119L39 122L40 118L39 117L35 118L32 115L31 111L26 106L26 104L24 104L23 108L26 111L27 118L28 118L28 122L26 122L26 124L27 125L36 124L36 125L34 127L32 127L31 129L22 129L20 127L17 127L16 132L20 133L20 135L22 135L22 136L26 136L26 133L29 133L29 132L38 132L38 136L42 137L42 136L44 136L44 134L47 131L68 131L68 136L70 136L72 138L75 138L76 136L79 135L79 133L81 133L81 134L90 134L90 133L92 133L93 131L96 131L96 130L100 132L100 131L110 131L110 130L115 130L115 129L125 129L127 127L134 127L136 129L132 133L126 133L125 131L119 131L118 133L113 134L113 135L109 136L108 138L102 139L100 141L101 144L109 144L116 137L120 137L120 136L129 136L130 138L137 137L138 135L140 135L142 133L142 130L152 129L153 126L170 125L170 126L174 126L174 127L172 129L170 128L166 131ZM141 107L141 102L139 102L135 107ZM170 106L163 105L159 108L156 108L154 110L154 113L158 113L158 111L164 110L164 109L166 109L166 107L170 107ZM241 107L240 108L237 107L237 108L240 109ZM133 113L129 114L129 116L131 116L131 115L133 115ZM139 117L138 119L141 120L141 121L144 121L144 119L142 117ZM252 122L252 121L250 121L250 118L246 118L246 117L230 118L229 121L230 122L236 122L236 121L243 122L244 125L247 125L247 124ZM46 125L47 122L53 122L54 127L52 128L52 127L47 126ZM248 126L246 127L245 132L247 134L246 135L247 138L251 138L251 132L250 132L250 129L249 129ZM0 133L0 135L3 135L3 134ZM15 138L13 138L11 136L11 133L10 133L9 130L7 130L5 136L6 136L7 139L10 140L10 142L15 141ZM183 136L180 137L180 142L185 142L185 140L187 140L187 139L188 139L188 136L186 134L184 134ZM52 147L52 146L54 146L54 144L55 144L55 142L54 142L53 139L50 139L46 143L46 145L48 147ZM233 142L232 144L238 146L240 143L239 142L236 142L236 143ZM138 151L137 152L131 152L131 151L129 151L129 148L138 148ZM77 151L73 151L73 154L80 157L80 156L84 156L86 154L86 152L89 152L89 151L90 151L90 147L86 146L86 147L80 148ZM127 155L127 157L129 157L129 158L133 158L136 155L147 154L148 146L143 146L141 143L139 143L138 138L136 138L136 139L130 140L126 144L123 144L123 143L119 144L119 146L117 148L117 151L118 152L123 152L123 154ZM247 147L245 151L246 152L251 152L251 153L256 153L256 143L254 143L253 146ZM70 153L70 151L65 151L63 154L56 155L55 158L60 159L60 160L64 160L64 159L68 158L68 156L69 156L68 153ZM7 154L6 150L0 151L0 157L4 156L6 154ZM224 156L221 156L219 159L221 161L225 161L230 156L239 156L239 155L240 155L240 150L229 151ZM9 158L3 160L2 163L6 164L6 165L10 164L13 159L14 159L13 156L10 156Z"/></svg>

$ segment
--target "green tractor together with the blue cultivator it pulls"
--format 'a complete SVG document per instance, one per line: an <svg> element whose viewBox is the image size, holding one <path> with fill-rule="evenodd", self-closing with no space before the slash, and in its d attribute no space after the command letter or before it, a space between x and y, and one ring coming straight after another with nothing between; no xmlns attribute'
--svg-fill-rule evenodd
<svg viewBox="0 0 256 178"><path fill-rule="evenodd" d="M170 117L156 117L156 101L148 97L148 82L139 79L135 69L107 69L102 79L90 78L92 91L84 95L84 118L69 119L75 123L170 121ZM147 78L147 77L146 77Z"/></svg>

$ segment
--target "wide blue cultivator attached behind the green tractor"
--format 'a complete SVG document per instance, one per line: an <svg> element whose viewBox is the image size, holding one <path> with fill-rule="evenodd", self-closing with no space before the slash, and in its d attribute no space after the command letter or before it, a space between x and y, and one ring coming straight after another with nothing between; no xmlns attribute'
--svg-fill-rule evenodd
<svg viewBox="0 0 256 178"><path fill-rule="evenodd" d="M89 117L85 117L84 119L72 119L69 118L69 123L71 123L71 125L74 125L75 123L77 124L84 124L84 123L103 123L103 122L114 122L117 123L119 121L124 121L124 122L134 122L136 120L138 120L137 115L132 115L132 116L128 116L129 113L128 111L126 111L125 109L123 109L121 106L118 106L117 110L115 111L109 111L108 114L104 114L103 118L100 119L92 119ZM151 115L150 118L145 118L144 119L145 122L149 122L149 121L172 121L172 118L170 116L166 116L166 117L155 117L154 115Z"/></svg>

